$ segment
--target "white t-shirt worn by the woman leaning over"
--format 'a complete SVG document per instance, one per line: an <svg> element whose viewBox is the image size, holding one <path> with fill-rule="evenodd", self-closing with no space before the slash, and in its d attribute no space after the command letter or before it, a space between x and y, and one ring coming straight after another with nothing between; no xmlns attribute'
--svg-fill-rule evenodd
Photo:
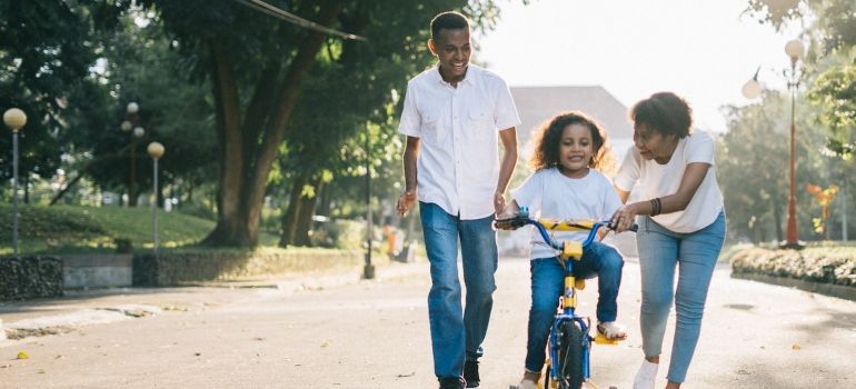
<svg viewBox="0 0 856 389"><path fill-rule="evenodd" d="M705 179L685 210L654 217L654 221L675 232L698 231L714 222L723 211L723 193L716 183L714 150L714 139L704 131L694 131L678 140L678 146L666 164L659 164L655 160L644 160L639 149L633 147L627 151L618 169L615 184L620 190L630 191L638 180L641 198L654 199L675 194L678 191L687 164L694 162L710 164Z"/></svg>

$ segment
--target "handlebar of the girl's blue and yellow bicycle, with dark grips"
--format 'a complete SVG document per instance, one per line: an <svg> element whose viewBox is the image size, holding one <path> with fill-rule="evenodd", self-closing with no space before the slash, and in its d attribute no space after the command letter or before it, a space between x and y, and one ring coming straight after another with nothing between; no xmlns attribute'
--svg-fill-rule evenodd
<svg viewBox="0 0 856 389"><path fill-rule="evenodd" d="M544 238L544 241L547 242L551 248L561 251L565 247L565 242L557 242L555 239L550 237L549 233L547 233L547 229L550 230L558 230L558 231L585 231L588 230L588 236L583 241L583 248L587 248L591 242L595 240L595 236L597 235L597 231L600 229L600 227L610 228L610 220L589 220L589 219L578 219L578 220L549 220L549 219L532 219L529 217L529 210L527 207L520 207L520 210L517 212L517 215L507 218L507 219L497 219L495 221L495 225L498 228L502 229L512 229L516 230L520 227L524 227L526 225L532 225L535 228L538 229L538 232L541 235L541 238ZM630 231L638 231L639 226L633 225L630 226Z"/></svg>

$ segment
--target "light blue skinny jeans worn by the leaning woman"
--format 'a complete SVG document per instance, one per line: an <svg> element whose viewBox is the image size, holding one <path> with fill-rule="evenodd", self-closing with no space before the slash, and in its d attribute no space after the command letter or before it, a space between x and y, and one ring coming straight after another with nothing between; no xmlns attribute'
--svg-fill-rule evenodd
<svg viewBox="0 0 856 389"><path fill-rule="evenodd" d="M691 232L673 232L651 218L638 218L636 245L641 268L643 351L657 357L663 349L666 320L675 301L677 322L667 379L684 382L701 330L705 300L716 259L725 240L725 213ZM675 269L678 272L677 289Z"/></svg>

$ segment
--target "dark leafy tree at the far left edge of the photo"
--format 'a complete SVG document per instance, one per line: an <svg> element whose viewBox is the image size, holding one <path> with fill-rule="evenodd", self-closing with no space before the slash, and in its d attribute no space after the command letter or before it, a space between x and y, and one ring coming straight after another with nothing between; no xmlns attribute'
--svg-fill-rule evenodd
<svg viewBox="0 0 856 389"><path fill-rule="evenodd" d="M97 58L92 38L113 28L123 7L0 0L0 109L21 108L29 119L21 131L24 190L30 176L51 177L59 166L67 119L87 99L76 91L93 82L88 77ZM12 149L10 138L0 137L0 149ZM3 152L0 179L11 176L11 153Z"/></svg>

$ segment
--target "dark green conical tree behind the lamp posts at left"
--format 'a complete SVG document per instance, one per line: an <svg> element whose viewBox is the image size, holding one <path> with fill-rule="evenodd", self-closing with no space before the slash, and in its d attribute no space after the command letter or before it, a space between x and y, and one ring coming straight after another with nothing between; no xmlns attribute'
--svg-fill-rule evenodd
<svg viewBox="0 0 856 389"><path fill-rule="evenodd" d="M152 174L146 147L156 140L167 148L160 160L163 178L188 186L215 179L217 147L208 136L213 123L210 89L207 83L190 82L181 71L177 46L165 34L157 14L139 8L122 14L119 27L99 39L98 88L87 91L90 99L76 117L78 130L68 140L91 154L81 173L101 188L129 189L135 156L136 184L148 189ZM141 139L120 130L129 102L140 107L138 124L146 131ZM136 193L129 194L133 206Z"/></svg>

